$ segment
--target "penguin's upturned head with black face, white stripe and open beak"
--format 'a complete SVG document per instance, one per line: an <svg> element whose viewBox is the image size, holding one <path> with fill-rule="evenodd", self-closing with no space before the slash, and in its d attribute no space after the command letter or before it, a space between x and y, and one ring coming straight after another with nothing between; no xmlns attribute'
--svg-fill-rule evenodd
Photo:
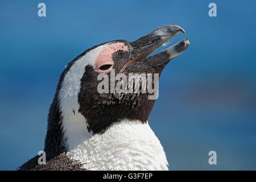
<svg viewBox="0 0 256 182"><path fill-rule="evenodd" d="M113 122L122 119L147 122L155 102L148 99L150 93L147 89L144 93L115 92L112 88L113 85L115 88L118 80L112 77L126 76L126 85L129 85L129 76L133 74L144 74L146 77L148 73L160 75L166 64L189 46L188 39L152 56L148 55L179 32L185 33L179 26L167 25L134 42L114 40L94 46L77 56L62 73L57 88L61 117L84 118L88 131L92 133L102 133ZM105 81L104 84L102 81ZM152 88L154 83L152 76ZM134 85L135 81L131 84ZM99 92L99 85L108 92ZM139 81L141 89L142 81Z"/></svg>

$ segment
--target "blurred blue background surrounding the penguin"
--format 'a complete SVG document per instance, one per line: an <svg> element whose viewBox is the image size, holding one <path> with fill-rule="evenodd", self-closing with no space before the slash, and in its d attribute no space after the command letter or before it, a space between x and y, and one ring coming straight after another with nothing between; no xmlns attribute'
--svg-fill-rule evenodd
<svg viewBox="0 0 256 182"><path fill-rule="evenodd" d="M46 3L46 17L38 3ZM217 17L208 16L210 2ZM149 123L170 169L256 169L255 1L1 1L0 169L43 150L60 73L86 49L178 24L191 46L160 78ZM167 47L160 47L157 51ZM209 165L208 152L217 152Z"/></svg>

